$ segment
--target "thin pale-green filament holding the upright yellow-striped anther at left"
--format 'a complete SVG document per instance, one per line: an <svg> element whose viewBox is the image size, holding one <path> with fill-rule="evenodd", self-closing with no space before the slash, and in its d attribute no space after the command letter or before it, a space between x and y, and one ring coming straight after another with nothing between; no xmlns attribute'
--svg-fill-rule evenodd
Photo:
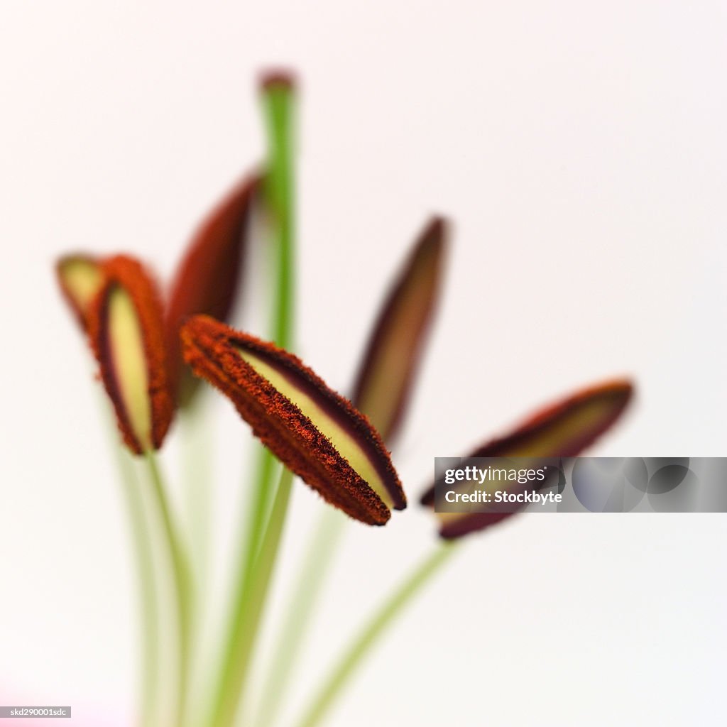
<svg viewBox="0 0 727 727"><path fill-rule="evenodd" d="M161 516L166 547L169 552L169 559L172 563L172 577L174 583L174 595L177 605L177 704L176 715L172 720L173 727L181 727L184 724L185 704L187 699L188 675L190 668L190 643L192 625L192 587L190 579L190 568L185 550L177 531L177 526L172 518L172 511L166 499L166 491L161 472L153 451L145 452L148 464L150 481L152 483L153 497L156 500L158 513Z"/></svg>

